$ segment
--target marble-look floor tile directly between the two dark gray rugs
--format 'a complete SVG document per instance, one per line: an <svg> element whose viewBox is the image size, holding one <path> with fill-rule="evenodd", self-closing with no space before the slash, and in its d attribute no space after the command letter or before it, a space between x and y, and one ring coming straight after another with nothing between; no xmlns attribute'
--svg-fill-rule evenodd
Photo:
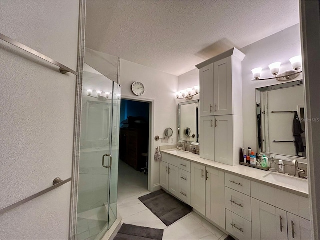
<svg viewBox="0 0 320 240"><path fill-rule="evenodd" d="M136 226L146 226L158 229L165 229L167 226L157 218L149 209L138 212L129 217L123 218L122 223Z"/></svg>

